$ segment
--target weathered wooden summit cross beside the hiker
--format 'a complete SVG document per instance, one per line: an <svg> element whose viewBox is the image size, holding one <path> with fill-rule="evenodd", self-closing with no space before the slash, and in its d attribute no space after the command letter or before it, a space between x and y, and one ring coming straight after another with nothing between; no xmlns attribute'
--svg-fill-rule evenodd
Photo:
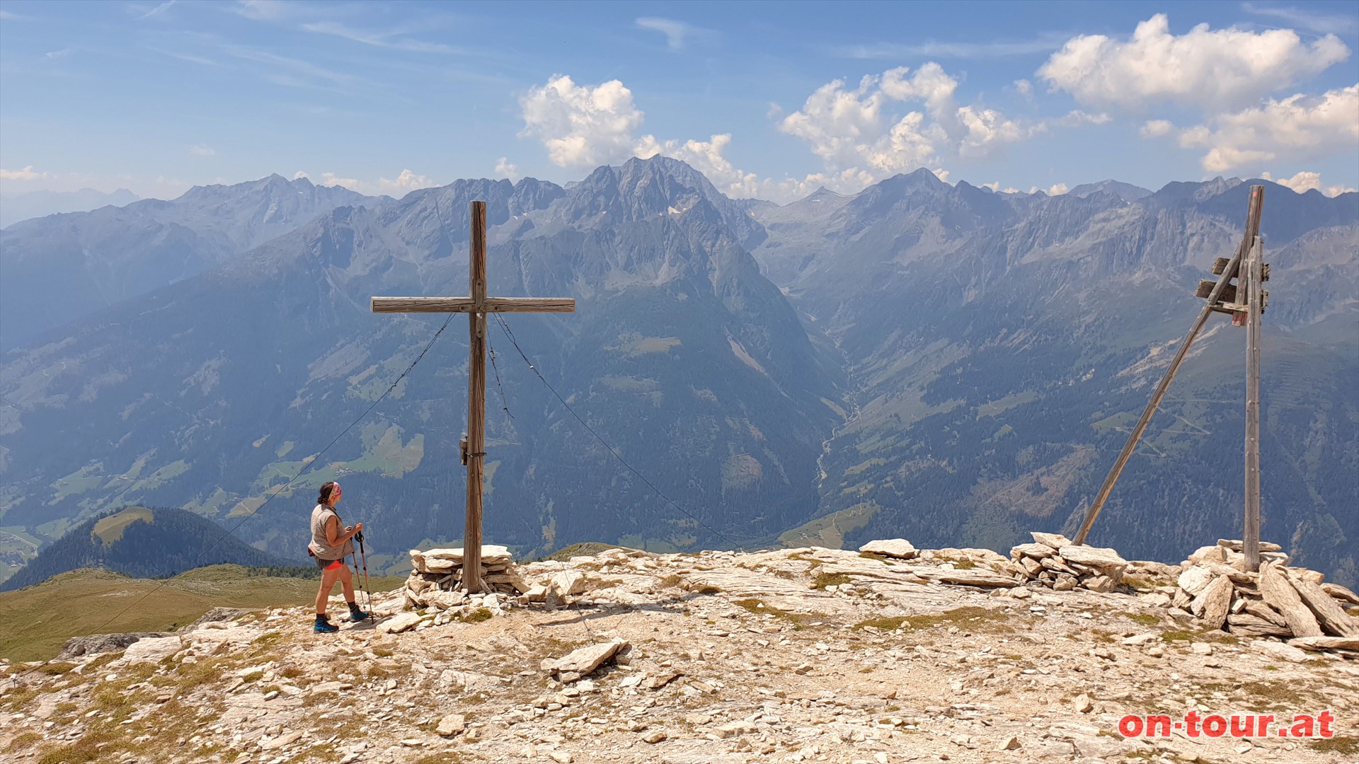
<svg viewBox="0 0 1359 764"><path fill-rule="evenodd" d="M467 514L462 537L462 586L481 591L481 465L487 447L487 314L572 313L569 298L487 296L487 203L472 203L472 247L466 298L372 298L374 313L466 313L470 332L467 367L467 440L462 464L467 465Z"/></svg>

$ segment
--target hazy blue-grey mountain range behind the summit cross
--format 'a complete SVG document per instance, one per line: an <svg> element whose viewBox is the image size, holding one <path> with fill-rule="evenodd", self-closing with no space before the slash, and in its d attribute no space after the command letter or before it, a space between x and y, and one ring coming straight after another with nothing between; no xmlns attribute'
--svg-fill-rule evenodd
<svg viewBox="0 0 1359 764"><path fill-rule="evenodd" d="M463 318L322 449L444 322L368 298L466 294L480 198L489 292L578 300L508 317L512 338L489 325L489 541L1007 549L1079 523L1201 307L1195 284L1239 241L1250 184L1273 273L1264 536L1354 583L1359 194L1235 178L1046 196L919 170L779 207L654 158L401 200L275 175L29 220L0 231L0 530L264 507L241 533L295 557L308 492L340 479L370 564L457 540ZM1178 560L1237 533L1242 343L1215 318L1091 542Z"/></svg>

